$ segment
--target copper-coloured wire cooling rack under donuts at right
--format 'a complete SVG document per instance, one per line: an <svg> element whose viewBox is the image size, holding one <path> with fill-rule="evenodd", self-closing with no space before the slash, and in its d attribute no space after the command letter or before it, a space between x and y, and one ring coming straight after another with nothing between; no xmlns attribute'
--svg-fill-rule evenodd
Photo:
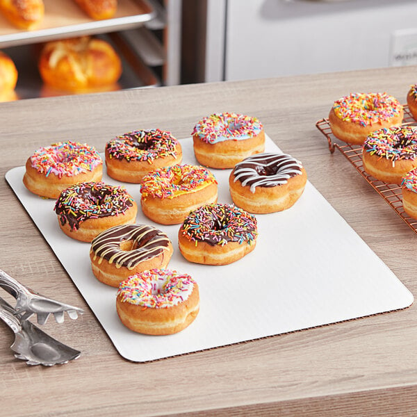
<svg viewBox="0 0 417 417"><path fill-rule="evenodd" d="M409 113L409 108L404 106L404 120L403 126L417 126L416 120ZM370 186L393 208L404 222L417 233L417 220L411 218L405 213L402 207L402 192L401 187L398 184L386 183L379 181L374 177L367 174L363 168L362 163L362 147L360 145L350 145L345 142L339 141L332 130L330 129L329 119L321 119L316 123L317 129L327 138L329 142L329 151L333 154L334 149L338 149L347 161L357 169L359 174L366 179Z"/></svg>

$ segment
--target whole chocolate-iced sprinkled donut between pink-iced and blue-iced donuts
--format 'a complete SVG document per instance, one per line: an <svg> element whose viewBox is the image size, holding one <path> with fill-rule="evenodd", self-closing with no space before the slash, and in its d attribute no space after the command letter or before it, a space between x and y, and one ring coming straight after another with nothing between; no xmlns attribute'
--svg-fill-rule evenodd
<svg viewBox="0 0 417 417"><path fill-rule="evenodd" d="M106 144L107 173L118 181L139 183L149 172L181 160L179 141L160 129L131 131Z"/></svg>

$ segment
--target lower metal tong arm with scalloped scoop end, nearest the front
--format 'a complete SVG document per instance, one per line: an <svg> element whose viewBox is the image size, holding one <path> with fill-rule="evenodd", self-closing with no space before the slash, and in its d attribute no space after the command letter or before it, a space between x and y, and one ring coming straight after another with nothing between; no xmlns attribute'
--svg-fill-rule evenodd
<svg viewBox="0 0 417 417"><path fill-rule="evenodd" d="M15 333L15 342L10 348L15 357L28 365L53 366L77 359L81 352L72 349L42 332L28 320L16 313L8 302L0 297L0 318Z"/></svg>

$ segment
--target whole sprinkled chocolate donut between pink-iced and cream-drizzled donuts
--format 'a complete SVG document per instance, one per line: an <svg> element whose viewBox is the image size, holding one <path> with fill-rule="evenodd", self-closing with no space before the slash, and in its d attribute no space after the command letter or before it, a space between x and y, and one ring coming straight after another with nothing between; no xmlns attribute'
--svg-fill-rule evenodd
<svg viewBox="0 0 417 417"><path fill-rule="evenodd" d="M124 187L83 182L63 190L54 211L67 236L91 242L110 227L134 223L138 206Z"/></svg>

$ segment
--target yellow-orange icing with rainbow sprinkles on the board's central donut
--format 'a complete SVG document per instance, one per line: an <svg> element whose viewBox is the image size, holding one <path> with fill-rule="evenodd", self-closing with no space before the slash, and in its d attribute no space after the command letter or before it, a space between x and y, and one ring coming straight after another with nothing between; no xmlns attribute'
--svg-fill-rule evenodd
<svg viewBox="0 0 417 417"><path fill-rule="evenodd" d="M193 193L215 183L214 175L204 167L195 165L172 165L161 167L145 175L140 193L142 199L149 195L157 198L174 198Z"/></svg>

